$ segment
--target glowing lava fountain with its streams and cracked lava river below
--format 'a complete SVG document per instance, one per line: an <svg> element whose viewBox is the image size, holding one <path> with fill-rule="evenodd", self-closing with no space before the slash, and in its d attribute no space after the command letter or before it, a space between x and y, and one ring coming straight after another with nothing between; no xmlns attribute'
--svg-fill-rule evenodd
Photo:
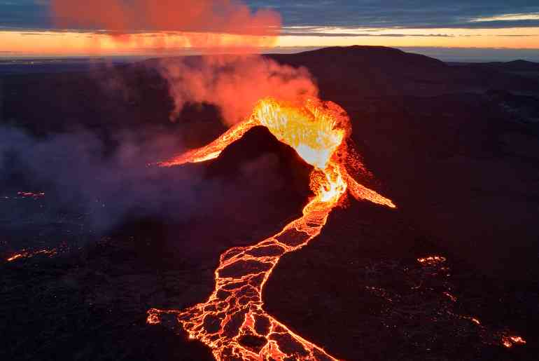
<svg viewBox="0 0 539 361"><path fill-rule="evenodd" d="M322 348L302 339L263 309L262 287L281 256L300 249L318 236L328 214L348 190L357 199L395 207L377 192L358 184L346 170L352 160L346 149L351 123L333 102L307 100L302 107L272 99L260 100L248 120L235 125L207 147L189 151L162 166L213 159L256 125L264 125L314 167L310 188L314 197L299 219L251 247L233 247L221 254L216 287L204 304L186 311L148 311L148 323L174 314L191 339L209 346L216 360L335 360Z"/></svg>

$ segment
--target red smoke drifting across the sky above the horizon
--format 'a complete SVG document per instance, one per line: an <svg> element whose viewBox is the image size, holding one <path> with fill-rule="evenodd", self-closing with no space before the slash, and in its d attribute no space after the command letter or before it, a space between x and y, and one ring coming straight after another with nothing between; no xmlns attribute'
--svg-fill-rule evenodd
<svg viewBox="0 0 539 361"><path fill-rule="evenodd" d="M104 30L116 41L158 32L184 39L186 47L250 48L271 46L281 28L279 13L251 12L239 0L92 0L84 6L52 0L51 6L59 27Z"/></svg>

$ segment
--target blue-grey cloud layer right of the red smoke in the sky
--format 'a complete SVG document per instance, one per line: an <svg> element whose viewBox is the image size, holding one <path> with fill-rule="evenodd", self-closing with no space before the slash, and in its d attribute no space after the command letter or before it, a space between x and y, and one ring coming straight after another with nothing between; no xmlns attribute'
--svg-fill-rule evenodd
<svg viewBox="0 0 539 361"><path fill-rule="evenodd" d="M470 20L507 14L538 13L539 4L514 0L378 0L378 1L249 1L256 6L272 6L283 16L285 26L402 27L402 28L474 28ZM529 19L528 19L529 20ZM485 22L484 27L539 26L525 19L516 22Z"/></svg>

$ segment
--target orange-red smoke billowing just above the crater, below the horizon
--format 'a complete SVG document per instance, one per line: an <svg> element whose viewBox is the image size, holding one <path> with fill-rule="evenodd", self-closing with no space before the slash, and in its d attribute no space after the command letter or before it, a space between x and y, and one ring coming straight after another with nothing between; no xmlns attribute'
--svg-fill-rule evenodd
<svg viewBox="0 0 539 361"><path fill-rule="evenodd" d="M186 103L206 102L219 107L230 126L251 115L263 97L302 104L305 97L318 95L306 68L281 65L258 55L214 55L191 63L178 59L160 63L175 104L172 120Z"/></svg>

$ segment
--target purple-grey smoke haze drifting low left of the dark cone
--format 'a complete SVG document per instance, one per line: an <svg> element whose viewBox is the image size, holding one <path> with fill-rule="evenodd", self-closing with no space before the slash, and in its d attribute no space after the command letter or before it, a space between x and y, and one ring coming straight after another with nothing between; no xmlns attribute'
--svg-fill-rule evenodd
<svg viewBox="0 0 539 361"><path fill-rule="evenodd" d="M36 138L0 128L0 184L8 194L45 191L48 205L87 214L96 231L131 214L178 218L196 212L196 171L148 166L181 149L175 137L147 129L115 138L111 147L85 130Z"/></svg>

